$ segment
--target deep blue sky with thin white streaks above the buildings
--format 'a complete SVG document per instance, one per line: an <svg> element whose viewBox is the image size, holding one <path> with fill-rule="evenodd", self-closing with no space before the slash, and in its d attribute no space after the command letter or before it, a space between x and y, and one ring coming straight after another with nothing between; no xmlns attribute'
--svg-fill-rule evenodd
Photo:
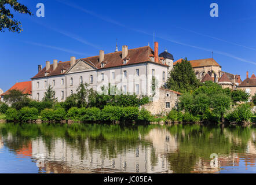
<svg viewBox="0 0 256 185"><path fill-rule="evenodd" d="M34 14L14 13L21 34L0 32L0 88L30 80L38 64L68 61L71 56L96 56L115 50L118 39L129 49L159 42L174 60L211 58L222 70L242 80L256 73L256 1L71 1L18 0ZM45 5L45 17L36 17L36 4ZM218 3L219 17L210 17Z"/></svg>

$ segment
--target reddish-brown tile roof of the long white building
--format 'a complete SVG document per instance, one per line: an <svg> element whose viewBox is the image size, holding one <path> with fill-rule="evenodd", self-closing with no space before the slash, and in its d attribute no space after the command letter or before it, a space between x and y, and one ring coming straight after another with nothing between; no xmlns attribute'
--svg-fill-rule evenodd
<svg viewBox="0 0 256 185"><path fill-rule="evenodd" d="M122 59L122 51L114 52L114 53L107 53L104 55L104 62L105 65L103 68L111 68L115 66L121 66L121 65L129 65L129 64L138 64L141 62L151 62L149 60L149 57L154 54L153 50L149 46L145 47L138 47L136 49L130 49L128 50L128 55L127 59L127 64L123 64L123 59ZM98 69L103 69L101 68L100 62L99 62L99 56L94 56L94 57L87 57L87 58L81 58L81 60L86 61L90 65L94 65ZM78 61L78 60L76 60ZM160 61L158 62L160 65L164 66L169 66L166 64L162 64ZM53 64L50 65L49 74L47 76L54 76L54 75L61 75L64 73L61 73L61 69L70 69L70 61L67 62L58 62L57 68L53 71ZM48 72L47 71L47 72ZM36 74L34 77L31 79L39 78L39 77L45 77L45 68L43 68L38 74Z"/></svg>

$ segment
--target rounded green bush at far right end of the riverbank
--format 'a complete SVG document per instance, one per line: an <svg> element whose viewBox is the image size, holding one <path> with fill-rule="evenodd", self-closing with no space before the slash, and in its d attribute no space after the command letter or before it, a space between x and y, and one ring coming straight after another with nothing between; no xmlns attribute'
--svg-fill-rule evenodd
<svg viewBox="0 0 256 185"><path fill-rule="evenodd" d="M226 116L226 120L228 121L236 121L237 123L242 123L242 121L248 121L253 117L253 113L251 112L250 105L244 103L236 107L233 112Z"/></svg>

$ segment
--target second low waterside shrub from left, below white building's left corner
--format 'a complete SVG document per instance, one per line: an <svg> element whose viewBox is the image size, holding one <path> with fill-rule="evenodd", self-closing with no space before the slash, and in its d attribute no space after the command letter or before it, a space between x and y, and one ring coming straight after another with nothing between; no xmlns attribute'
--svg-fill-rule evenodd
<svg viewBox="0 0 256 185"><path fill-rule="evenodd" d="M36 108L21 108L19 110L19 120L28 121L28 120L37 120L38 119L38 110Z"/></svg>

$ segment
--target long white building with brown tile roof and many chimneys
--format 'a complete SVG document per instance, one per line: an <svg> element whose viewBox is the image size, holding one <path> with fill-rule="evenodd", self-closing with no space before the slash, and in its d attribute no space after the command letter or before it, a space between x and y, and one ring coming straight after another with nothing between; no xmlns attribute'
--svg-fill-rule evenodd
<svg viewBox="0 0 256 185"><path fill-rule="evenodd" d="M152 94L152 77L156 79L156 90L165 85L167 74L173 68L173 56L164 51L158 56L158 42L155 51L149 46L104 54L99 56L53 64L46 61L45 68L39 65L38 74L32 77L32 99L42 100L50 85L58 101L64 101L81 83L87 83L98 92L104 91L110 83L122 90L137 95Z"/></svg>

